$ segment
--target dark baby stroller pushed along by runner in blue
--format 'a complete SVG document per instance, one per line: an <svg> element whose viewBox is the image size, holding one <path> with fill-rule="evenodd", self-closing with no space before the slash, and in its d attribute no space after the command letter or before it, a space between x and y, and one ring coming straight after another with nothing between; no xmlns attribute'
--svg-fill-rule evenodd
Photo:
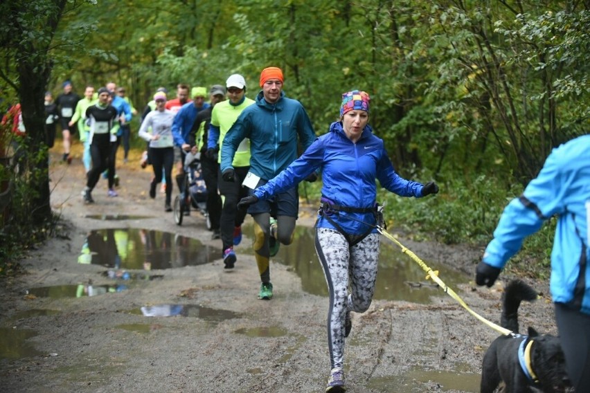
<svg viewBox="0 0 590 393"><path fill-rule="evenodd" d="M207 229L211 229L211 220L207 212L207 188L201 168L201 153L188 152L184 160L184 192L174 200L174 221L182 225L184 213L195 208L203 214L207 221Z"/></svg>

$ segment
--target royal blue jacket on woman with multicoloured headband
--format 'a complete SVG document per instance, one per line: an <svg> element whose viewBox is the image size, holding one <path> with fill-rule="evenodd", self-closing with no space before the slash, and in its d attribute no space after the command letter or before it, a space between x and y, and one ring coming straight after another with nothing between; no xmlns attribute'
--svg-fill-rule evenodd
<svg viewBox="0 0 590 393"><path fill-rule="evenodd" d="M348 139L341 122L330 125L328 134L314 143L276 178L254 194L258 199L269 199L278 192L292 188L312 172L321 170L321 194L332 205L349 208L373 208L377 198L377 184L401 197L422 197L423 185L400 177L385 151L383 140L373 135L367 125L357 143ZM375 224L372 212L334 212L330 219L350 235L363 235ZM335 228L328 219L319 216L319 228ZM371 232L377 232L375 228Z"/></svg>

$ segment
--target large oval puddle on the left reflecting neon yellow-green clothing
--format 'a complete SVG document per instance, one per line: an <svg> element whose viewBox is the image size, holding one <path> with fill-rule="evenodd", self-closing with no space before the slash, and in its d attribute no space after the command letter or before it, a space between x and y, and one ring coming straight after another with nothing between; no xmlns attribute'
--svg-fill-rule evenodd
<svg viewBox="0 0 590 393"><path fill-rule="evenodd" d="M78 263L150 271L207 264L220 255L221 248L172 232L110 228L89 232Z"/></svg>

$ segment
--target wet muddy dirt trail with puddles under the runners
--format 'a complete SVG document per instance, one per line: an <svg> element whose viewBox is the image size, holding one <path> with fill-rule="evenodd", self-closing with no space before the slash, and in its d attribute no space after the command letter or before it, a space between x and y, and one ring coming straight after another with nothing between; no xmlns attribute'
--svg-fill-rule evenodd
<svg viewBox="0 0 590 393"><path fill-rule="evenodd" d="M313 259L313 206L302 208L296 244L271 262L274 298L257 300L251 237L236 247L235 269L224 271L204 217L191 212L177 226L163 194L148 197L150 167L135 156L118 163L118 197L107 197L101 179L96 203L84 205L79 152L72 165L57 153L51 204L60 236L0 287L1 392L325 390L328 298ZM481 250L400 241L443 281L452 276L472 309L499 321L509 277L476 287ZM394 253L397 264L386 262ZM481 359L498 333L407 267L415 262L399 249L389 245L382 259L378 295L353 315L346 342L348 392L478 392ZM521 327L555 333L547 283L529 283L543 298L521 306Z"/></svg>

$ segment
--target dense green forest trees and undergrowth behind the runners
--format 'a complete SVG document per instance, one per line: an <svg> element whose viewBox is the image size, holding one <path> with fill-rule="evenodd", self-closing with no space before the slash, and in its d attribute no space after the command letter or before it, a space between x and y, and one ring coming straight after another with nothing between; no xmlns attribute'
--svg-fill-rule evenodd
<svg viewBox="0 0 590 393"><path fill-rule="evenodd" d="M590 1L12 0L0 39L2 109L20 102L27 129L18 170L0 129L2 274L53 235L43 101L64 80L80 95L117 82L141 111L158 86L232 73L253 98L262 68L279 66L318 135L341 93L365 90L397 172L440 186L424 200L379 191L389 226L447 244L489 241L551 149L590 130ZM301 196L316 203L320 188ZM554 228L512 268L547 275Z"/></svg>

